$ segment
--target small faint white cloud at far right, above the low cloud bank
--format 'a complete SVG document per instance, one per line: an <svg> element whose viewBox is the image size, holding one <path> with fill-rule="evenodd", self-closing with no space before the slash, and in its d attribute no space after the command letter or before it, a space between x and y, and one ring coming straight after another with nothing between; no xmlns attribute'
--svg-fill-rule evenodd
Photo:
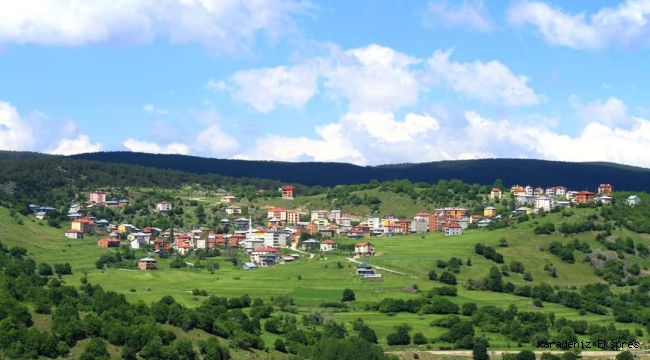
<svg viewBox="0 0 650 360"><path fill-rule="evenodd" d="M597 99L582 104L575 95L572 95L569 101L578 111L578 116L585 122L600 122L610 126L627 126L633 123L627 113L627 106L621 99L610 97L604 102Z"/></svg>

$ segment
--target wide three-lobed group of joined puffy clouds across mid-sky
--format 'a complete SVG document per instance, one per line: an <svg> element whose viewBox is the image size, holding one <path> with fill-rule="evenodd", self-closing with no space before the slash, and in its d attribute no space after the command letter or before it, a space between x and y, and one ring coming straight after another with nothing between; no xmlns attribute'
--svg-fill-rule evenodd
<svg viewBox="0 0 650 360"><path fill-rule="evenodd" d="M469 98L507 106L545 101L528 87L529 78L515 75L498 61L450 61L452 50L437 51L427 61L376 44L342 51L293 66L259 68L234 73L227 81L210 80L209 89L227 90L233 100L267 113L278 106L303 108L319 91L347 105L348 111L393 112L415 105L420 94L448 85Z"/></svg>

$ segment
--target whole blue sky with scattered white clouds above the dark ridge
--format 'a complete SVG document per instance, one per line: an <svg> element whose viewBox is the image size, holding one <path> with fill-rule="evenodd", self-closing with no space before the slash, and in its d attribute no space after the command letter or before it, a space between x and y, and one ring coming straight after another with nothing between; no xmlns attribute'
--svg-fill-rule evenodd
<svg viewBox="0 0 650 360"><path fill-rule="evenodd" d="M3 0L0 149L650 167L650 0Z"/></svg>

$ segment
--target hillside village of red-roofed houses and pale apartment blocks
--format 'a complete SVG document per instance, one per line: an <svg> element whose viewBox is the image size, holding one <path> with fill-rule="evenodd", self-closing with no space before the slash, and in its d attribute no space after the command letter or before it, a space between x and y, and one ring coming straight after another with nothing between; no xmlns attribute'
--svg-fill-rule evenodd
<svg viewBox="0 0 650 360"><path fill-rule="evenodd" d="M293 200L295 193L291 185L279 189L282 199ZM337 249L336 238L358 239L355 245L355 258L373 256L374 246L368 238L391 237L396 235L423 234L440 232L445 236L461 236L469 228L482 229L494 221L504 217L497 212L497 205L506 198L514 200L517 208L507 217L531 215L539 212L549 212L557 207L573 207L578 204L601 202L611 203L613 186L601 184L597 192L569 191L563 186L549 188L514 185L509 191L492 188L486 195L487 206L483 214L470 214L462 207L439 208L432 213L419 212L411 219L399 219L392 215L383 217L367 217L361 219L346 215L340 209L313 210L307 215L310 221L300 221L303 211L287 210L279 207L266 206L267 222L253 224L250 217L242 217L242 208L237 205L239 199L232 195L222 196L219 201L226 204L227 218L219 223L229 229L227 233L217 233L214 229L199 227L190 231L182 229L158 229L154 227L137 228L134 225L122 223L111 224L106 219L96 219L86 215L88 210L97 206L113 208L124 207L128 200L107 200L102 190L96 190L88 195L87 204L73 204L68 217L71 220L70 229L64 235L70 239L83 239L84 235L94 235L98 232L106 234L97 241L100 248L119 248L125 244L132 249L152 249L154 254L174 252L181 256L196 250L216 250L235 248L245 251L249 261L244 269L270 267L275 264L286 264L300 258L300 254L284 254L280 249L327 252ZM626 199L631 206L640 202L638 196L632 195ZM34 216L45 219L47 212L54 210L48 206L30 205ZM173 204L160 201L155 210L169 213ZM285 252L286 253L286 252ZM365 264L358 269L358 275L374 276ZM156 268L156 260L151 257L140 259L141 270ZM360 271L360 272L359 272Z"/></svg>

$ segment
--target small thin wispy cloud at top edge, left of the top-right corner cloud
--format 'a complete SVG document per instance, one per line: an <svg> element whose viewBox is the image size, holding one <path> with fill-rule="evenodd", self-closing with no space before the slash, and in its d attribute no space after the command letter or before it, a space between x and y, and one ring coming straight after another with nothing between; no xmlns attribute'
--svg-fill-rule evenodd
<svg viewBox="0 0 650 360"><path fill-rule="evenodd" d="M429 1L423 23L425 26L434 26L439 23L448 27L466 26L478 31L492 31L493 29L483 0L463 0L462 3L456 4L450 4L448 0Z"/></svg>

